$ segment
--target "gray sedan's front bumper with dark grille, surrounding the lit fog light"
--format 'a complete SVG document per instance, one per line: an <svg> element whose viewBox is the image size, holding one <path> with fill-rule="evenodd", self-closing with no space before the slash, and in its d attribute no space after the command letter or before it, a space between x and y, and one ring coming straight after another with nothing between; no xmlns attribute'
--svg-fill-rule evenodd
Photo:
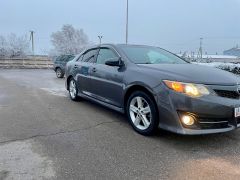
<svg viewBox="0 0 240 180"><path fill-rule="evenodd" d="M231 87L233 88L233 87ZM199 135L232 131L240 127L240 117L234 117L234 108L240 107L239 99L208 95L192 98L161 87L157 96L159 127L178 134ZM184 126L180 117L191 113L196 117L192 127Z"/></svg>

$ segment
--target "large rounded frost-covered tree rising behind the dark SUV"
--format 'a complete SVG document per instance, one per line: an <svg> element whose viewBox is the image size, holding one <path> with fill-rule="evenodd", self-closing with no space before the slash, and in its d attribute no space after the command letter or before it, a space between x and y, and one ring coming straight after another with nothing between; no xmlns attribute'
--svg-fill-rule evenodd
<svg viewBox="0 0 240 180"><path fill-rule="evenodd" d="M63 25L61 31L52 33L51 41L56 54L77 54L90 43L83 29L75 29L72 25Z"/></svg>

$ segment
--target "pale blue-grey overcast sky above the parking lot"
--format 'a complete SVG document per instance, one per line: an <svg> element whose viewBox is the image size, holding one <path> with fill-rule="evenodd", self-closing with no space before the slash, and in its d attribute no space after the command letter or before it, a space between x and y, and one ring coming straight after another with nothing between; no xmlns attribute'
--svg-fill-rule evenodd
<svg viewBox="0 0 240 180"><path fill-rule="evenodd" d="M125 42L126 0L0 0L0 34L34 30L36 49L51 48L63 24L82 28L97 43ZM129 0L129 43L173 52L222 53L240 45L240 0Z"/></svg>

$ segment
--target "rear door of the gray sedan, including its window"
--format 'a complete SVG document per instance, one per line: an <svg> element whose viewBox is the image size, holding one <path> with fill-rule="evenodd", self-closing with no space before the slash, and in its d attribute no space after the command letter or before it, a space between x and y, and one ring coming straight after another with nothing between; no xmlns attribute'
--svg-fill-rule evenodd
<svg viewBox="0 0 240 180"><path fill-rule="evenodd" d="M91 72L96 61L98 49L90 49L83 53L75 62L77 86L81 93L91 95Z"/></svg>

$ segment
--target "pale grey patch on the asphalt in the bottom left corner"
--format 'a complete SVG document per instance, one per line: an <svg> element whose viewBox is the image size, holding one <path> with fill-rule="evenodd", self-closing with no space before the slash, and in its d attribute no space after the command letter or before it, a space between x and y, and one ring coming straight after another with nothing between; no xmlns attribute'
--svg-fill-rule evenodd
<svg viewBox="0 0 240 180"><path fill-rule="evenodd" d="M33 141L0 146L0 180L54 179L53 162L32 150Z"/></svg>

